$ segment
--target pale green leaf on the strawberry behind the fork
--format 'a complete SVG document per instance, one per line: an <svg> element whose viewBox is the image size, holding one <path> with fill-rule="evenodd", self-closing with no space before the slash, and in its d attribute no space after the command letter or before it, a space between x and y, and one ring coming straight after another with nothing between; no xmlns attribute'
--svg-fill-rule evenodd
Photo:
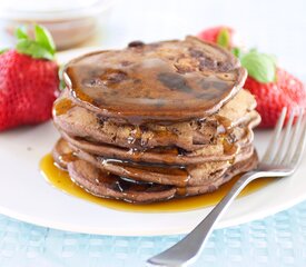
<svg viewBox="0 0 306 267"><path fill-rule="evenodd" d="M243 67L248 71L248 75L259 82L272 82L276 76L275 58L266 53L259 53L251 50L240 58Z"/></svg>

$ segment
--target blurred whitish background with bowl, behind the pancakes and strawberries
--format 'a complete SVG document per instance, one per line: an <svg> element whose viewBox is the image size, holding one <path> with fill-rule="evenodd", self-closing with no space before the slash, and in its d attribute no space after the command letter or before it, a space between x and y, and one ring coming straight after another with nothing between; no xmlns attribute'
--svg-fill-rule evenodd
<svg viewBox="0 0 306 267"><path fill-rule="evenodd" d="M292 72L306 72L305 0L0 0L0 19L1 48L10 44L16 26L38 22L61 50L120 48L229 26L246 46L276 55Z"/></svg>

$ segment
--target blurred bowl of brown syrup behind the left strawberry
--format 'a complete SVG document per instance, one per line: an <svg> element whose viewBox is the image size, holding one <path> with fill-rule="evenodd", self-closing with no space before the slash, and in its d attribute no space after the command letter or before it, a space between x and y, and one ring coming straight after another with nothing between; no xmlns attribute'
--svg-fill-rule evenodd
<svg viewBox="0 0 306 267"><path fill-rule="evenodd" d="M1 2L2 33L12 40L20 24L39 23L51 32L58 49L77 46L97 32L116 0L10 0Z"/></svg>

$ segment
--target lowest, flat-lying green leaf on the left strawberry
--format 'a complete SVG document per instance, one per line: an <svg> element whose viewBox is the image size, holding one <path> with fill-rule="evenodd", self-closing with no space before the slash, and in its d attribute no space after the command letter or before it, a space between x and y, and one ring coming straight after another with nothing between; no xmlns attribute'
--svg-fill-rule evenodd
<svg viewBox="0 0 306 267"><path fill-rule="evenodd" d="M47 48L40 46L40 43L33 40L20 40L17 42L16 49L20 53L26 53L37 59L43 58L52 60L55 58L55 56Z"/></svg>

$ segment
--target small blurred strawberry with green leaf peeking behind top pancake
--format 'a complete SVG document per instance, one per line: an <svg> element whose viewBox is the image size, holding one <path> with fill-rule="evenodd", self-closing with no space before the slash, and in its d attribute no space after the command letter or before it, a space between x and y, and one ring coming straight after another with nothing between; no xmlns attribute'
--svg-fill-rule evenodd
<svg viewBox="0 0 306 267"><path fill-rule="evenodd" d="M198 34L198 38L204 41L218 43L221 47L230 49L233 47L234 30L226 26L218 26L206 29Z"/></svg>

